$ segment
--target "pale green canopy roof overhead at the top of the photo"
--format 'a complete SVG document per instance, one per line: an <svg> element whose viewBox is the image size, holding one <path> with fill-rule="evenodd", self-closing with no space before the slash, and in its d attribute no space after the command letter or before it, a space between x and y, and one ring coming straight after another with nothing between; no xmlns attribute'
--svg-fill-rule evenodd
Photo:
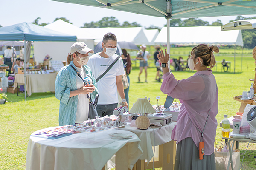
<svg viewBox="0 0 256 170"><path fill-rule="evenodd" d="M109 8L155 17L216 17L256 13L256 1L246 0L53 0ZM170 14L166 6L170 3Z"/></svg>

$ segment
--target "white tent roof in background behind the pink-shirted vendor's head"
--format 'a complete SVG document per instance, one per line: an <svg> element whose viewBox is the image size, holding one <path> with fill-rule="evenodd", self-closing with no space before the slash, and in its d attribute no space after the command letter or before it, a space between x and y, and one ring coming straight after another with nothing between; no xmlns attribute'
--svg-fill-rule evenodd
<svg viewBox="0 0 256 170"><path fill-rule="evenodd" d="M163 27L155 43L166 43L167 27ZM170 27L170 44L197 45L239 45L243 46L241 30L221 31L220 26Z"/></svg>

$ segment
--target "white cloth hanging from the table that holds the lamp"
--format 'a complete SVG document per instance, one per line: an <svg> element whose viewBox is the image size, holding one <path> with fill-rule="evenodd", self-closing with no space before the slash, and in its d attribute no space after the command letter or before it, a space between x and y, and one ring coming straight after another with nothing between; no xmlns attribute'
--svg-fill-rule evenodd
<svg viewBox="0 0 256 170"><path fill-rule="evenodd" d="M161 129L148 128L146 130L140 130L137 127L131 126L126 126L125 128L120 129L131 131L140 138L140 146L143 150L143 155L139 159L147 159L149 162L154 156L152 146L158 146L170 142L172 140L172 130L175 125L176 122L172 122L169 125L162 126Z"/></svg>

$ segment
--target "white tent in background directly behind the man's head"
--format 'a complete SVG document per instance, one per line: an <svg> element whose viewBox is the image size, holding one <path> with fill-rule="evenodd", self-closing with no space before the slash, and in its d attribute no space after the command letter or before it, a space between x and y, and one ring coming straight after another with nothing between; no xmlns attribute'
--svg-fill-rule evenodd
<svg viewBox="0 0 256 170"><path fill-rule="evenodd" d="M133 42L136 45L148 44L148 39L143 32L142 27L107 27L107 28L81 28L90 34L97 34L99 36L95 43L102 41L104 34L111 32L116 35L117 41Z"/></svg>

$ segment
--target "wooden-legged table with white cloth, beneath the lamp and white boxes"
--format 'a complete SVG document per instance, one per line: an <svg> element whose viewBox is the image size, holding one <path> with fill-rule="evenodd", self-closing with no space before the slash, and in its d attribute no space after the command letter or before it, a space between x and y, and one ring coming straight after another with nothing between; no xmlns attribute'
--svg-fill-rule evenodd
<svg viewBox="0 0 256 170"><path fill-rule="evenodd" d="M152 162L147 166L145 160L148 162L153 158L154 153L152 146L159 146L159 161L154 162L154 168L163 167L163 170L172 170L174 167L174 158L176 155L176 142L171 139L172 130L176 122L159 128L148 128L140 130L137 127L126 126L120 130L127 130L135 133L141 140L140 146L143 150L143 155L137 162L137 170L145 170L152 168Z"/></svg>

